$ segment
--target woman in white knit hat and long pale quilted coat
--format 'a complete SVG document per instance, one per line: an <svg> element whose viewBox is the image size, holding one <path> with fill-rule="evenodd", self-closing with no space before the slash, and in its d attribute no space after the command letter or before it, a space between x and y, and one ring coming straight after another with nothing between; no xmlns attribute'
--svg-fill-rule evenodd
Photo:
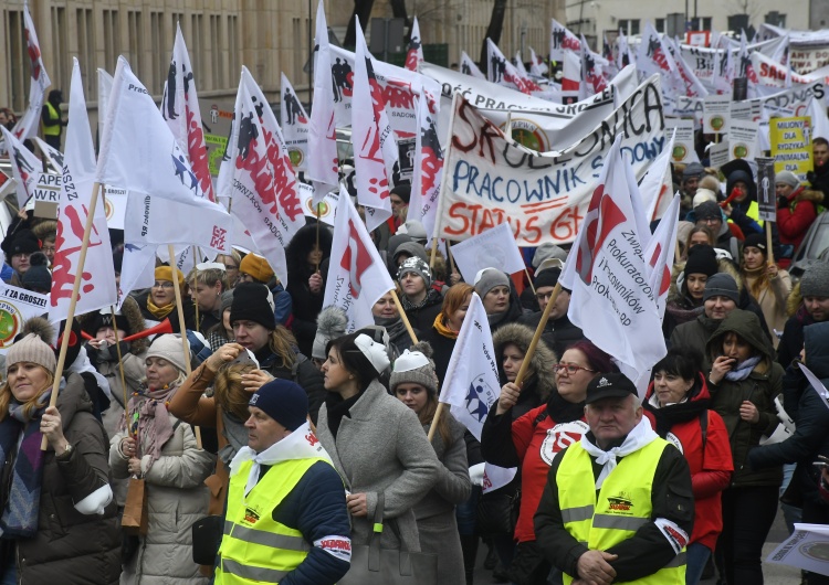
<svg viewBox="0 0 829 585"><path fill-rule="evenodd" d="M181 339L166 334L147 350L147 382L127 406L127 428L111 443L115 477L136 476L147 485L149 529L124 560L123 584L207 583L192 561L191 525L207 513L204 479L213 456L196 445L190 425L167 406L185 380Z"/></svg>

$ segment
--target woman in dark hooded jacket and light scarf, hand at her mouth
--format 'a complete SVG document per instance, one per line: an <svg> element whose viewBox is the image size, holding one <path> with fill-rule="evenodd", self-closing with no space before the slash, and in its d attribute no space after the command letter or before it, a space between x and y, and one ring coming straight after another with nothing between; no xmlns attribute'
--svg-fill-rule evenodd
<svg viewBox="0 0 829 585"><path fill-rule="evenodd" d="M717 542L728 585L763 583L763 543L777 513L780 466L754 471L748 451L778 424L774 400L783 389L783 368L753 312L734 309L707 343L711 408L725 422L734 475L723 492L723 533Z"/></svg>

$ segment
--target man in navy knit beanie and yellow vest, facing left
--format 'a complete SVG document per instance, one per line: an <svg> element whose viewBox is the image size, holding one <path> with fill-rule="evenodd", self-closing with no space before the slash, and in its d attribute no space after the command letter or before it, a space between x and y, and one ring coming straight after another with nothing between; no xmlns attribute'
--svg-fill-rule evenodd
<svg viewBox="0 0 829 585"><path fill-rule="evenodd" d="M350 566L350 525L343 480L307 422L307 395L276 379L248 410L248 447L230 464L216 583L333 585Z"/></svg>

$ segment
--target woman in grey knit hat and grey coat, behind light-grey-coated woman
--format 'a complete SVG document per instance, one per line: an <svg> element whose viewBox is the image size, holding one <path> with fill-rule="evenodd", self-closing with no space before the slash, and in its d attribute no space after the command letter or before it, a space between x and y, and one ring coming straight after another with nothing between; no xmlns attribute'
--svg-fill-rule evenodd
<svg viewBox="0 0 829 585"><path fill-rule="evenodd" d="M438 408L438 376L431 353L431 345L424 341L413 345L412 351L406 350L395 361L389 383L392 394L418 415L427 434ZM466 583L454 513L454 507L465 502L472 492L464 430L448 412L438 421L432 438L441 462L438 482L414 507L420 547L438 555L438 574L441 583L448 585Z"/></svg>

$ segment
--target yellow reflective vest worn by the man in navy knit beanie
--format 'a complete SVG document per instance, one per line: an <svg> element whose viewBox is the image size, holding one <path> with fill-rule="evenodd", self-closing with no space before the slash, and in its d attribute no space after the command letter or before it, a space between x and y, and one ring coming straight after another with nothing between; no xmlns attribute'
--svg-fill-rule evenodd
<svg viewBox="0 0 829 585"><path fill-rule="evenodd" d="M321 458L291 459L271 467L244 496L253 461L230 478L217 585L279 583L308 555L302 533L273 520L273 510ZM328 462L328 461L326 461Z"/></svg>

